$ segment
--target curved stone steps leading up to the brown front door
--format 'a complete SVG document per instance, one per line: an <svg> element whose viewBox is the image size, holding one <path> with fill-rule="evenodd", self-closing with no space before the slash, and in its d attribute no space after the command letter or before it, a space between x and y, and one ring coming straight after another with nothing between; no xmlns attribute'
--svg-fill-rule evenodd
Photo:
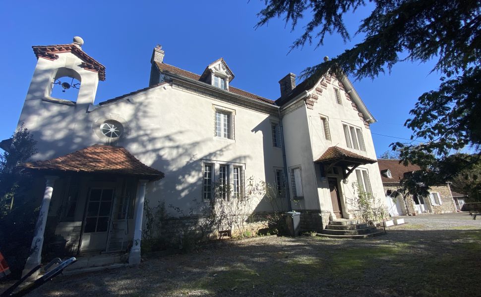
<svg viewBox="0 0 481 297"><path fill-rule="evenodd" d="M317 236L361 239L379 236L383 233L376 227L369 226L367 223L361 223L359 220L339 219L329 221L326 228L321 233L318 233Z"/></svg>

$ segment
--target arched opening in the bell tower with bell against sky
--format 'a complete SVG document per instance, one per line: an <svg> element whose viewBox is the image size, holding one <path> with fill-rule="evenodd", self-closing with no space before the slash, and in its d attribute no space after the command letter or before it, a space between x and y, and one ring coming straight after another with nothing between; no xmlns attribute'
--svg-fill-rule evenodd
<svg viewBox="0 0 481 297"><path fill-rule="evenodd" d="M80 75L70 68L59 68L52 81L50 97L77 101L81 86Z"/></svg>

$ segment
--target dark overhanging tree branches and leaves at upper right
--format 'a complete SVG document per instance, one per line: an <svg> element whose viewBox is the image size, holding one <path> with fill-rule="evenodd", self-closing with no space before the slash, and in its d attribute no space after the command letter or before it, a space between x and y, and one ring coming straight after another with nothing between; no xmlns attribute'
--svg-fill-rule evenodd
<svg viewBox="0 0 481 297"><path fill-rule="evenodd" d="M479 0L376 0L371 14L361 21L356 34L364 40L324 63L308 67L303 76L319 77L327 71L351 74L357 79L375 78L404 60L426 62L436 59L433 71L443 74L436 91L421 95L406 126L412 139L426 143L392 144L400 150L403 163L418 164L429 171L416 176L423 185L445 182L459 170L468 169L468 159L453 164L449 155L471 146L480 157L481 125L481 2ZM310 21L292 49L323 45L326 33L350 35L343 22L347 12L364 5L363 0L265 0L257 26L285 15L292 28L303 17Z"/></svg>

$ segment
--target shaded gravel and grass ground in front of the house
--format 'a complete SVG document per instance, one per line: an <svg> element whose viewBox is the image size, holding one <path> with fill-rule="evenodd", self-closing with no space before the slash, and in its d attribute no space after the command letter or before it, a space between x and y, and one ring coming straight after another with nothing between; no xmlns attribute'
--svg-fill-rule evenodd
<svg viewBox="0 0 481 297"><path fill-rule="evenodd" d="M476 296L481 217L405 217L373 239L265 237L90 274L30 296ZM474 288L474 289L473 289ZM479 295L478 295L479 296Z"/></svg>

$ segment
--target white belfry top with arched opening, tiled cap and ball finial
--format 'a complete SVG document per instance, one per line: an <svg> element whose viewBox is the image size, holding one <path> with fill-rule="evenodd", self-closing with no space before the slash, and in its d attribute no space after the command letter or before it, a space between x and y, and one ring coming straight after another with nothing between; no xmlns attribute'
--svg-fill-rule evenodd
<svg viewBox="0 0 481 297"><path fill-rule="evenodd" d="M85 53L83 44L76 36L71 44L32 47L38 62L25 100L79 108L93 104L99 80L105 80L105 66Z"/></svg>

